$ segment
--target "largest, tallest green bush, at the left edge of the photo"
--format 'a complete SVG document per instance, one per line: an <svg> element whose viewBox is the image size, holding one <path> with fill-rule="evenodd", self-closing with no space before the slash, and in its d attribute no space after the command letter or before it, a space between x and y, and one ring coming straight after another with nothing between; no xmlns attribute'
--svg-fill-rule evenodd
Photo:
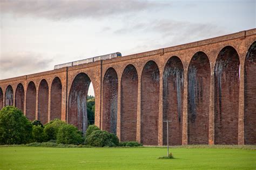
<svg viewBox="0 0 256 170"><path fill-rule="evenodd" d="M0 111L0 144L25 144L32 138L32 124L18 108L4 107Z"/></svg>

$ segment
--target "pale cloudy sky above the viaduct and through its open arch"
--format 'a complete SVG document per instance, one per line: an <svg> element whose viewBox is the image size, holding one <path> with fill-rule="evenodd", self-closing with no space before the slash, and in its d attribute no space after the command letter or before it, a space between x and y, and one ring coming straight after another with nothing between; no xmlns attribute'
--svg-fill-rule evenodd
<svg viewBox="0 0 256 170"><path fill-rule="evenodd" d="M0 80L253 29L255 9L256 0L0 0Z"/></svg>

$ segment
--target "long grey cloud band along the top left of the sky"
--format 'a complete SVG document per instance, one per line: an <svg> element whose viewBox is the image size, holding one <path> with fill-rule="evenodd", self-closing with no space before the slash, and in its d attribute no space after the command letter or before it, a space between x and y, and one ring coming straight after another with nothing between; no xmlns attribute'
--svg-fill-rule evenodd
<svg viewBox="0 0 256 170"><path fill-rule="evenodd" d="M12 13L15 16L33 16L47 19L70 19L105 17L109 15L120 15L122 13L138 12L145 9L164 7L167 3L149 1L86 1L86 0L17 0L0 2L2 13Z"/></svg>

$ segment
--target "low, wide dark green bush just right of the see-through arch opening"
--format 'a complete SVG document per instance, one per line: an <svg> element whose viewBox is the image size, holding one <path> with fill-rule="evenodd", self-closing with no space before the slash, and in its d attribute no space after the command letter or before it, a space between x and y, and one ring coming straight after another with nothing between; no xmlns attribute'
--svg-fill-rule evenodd
<svg viewBox="0 0 256 170"><path fill-rule="evenodd" d="M96 130L86 136L85 143L90 146L118 146L119 140L116 135L107 131Z"/></svg>

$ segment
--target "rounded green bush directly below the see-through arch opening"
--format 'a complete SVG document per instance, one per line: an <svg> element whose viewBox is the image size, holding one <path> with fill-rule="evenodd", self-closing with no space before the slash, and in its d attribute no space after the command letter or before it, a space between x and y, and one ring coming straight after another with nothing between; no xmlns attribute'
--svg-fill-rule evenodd
<svg viewBox="0 0 256 170"><path fill-rule="evenodd" d="M71 124L65 124L60 126L57 134L58 144L82 144L83 143L82 132L77 129L76 126Z"/></svg>

